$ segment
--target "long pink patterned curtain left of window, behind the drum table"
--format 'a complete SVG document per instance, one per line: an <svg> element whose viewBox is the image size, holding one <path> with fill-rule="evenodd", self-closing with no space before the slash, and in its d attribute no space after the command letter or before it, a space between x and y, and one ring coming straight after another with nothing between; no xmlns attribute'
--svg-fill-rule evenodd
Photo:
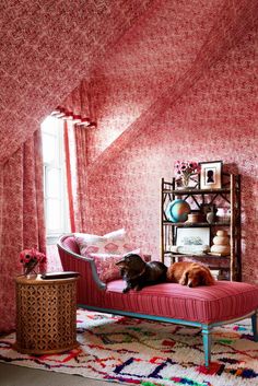
<svg viewBox="0 0 258 386"><path fill-rule="evenodd" d="M46 252L40 129L1 167L0 189L0 331L7 331L15 326L19 254L32 247Z"/></svg>

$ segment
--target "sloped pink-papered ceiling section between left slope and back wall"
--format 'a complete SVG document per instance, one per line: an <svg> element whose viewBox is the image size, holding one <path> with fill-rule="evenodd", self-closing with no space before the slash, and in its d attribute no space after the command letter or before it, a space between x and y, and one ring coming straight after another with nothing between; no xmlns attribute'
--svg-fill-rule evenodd
<svg viewBox="0 0 258 386"><path fill-rule="evenodd" d="M257 25L257 0L156 2L95 68L98 125L87 137L93 139L89 172L107 166L152 121L175 109L177 101L211 75Z"/></svg>

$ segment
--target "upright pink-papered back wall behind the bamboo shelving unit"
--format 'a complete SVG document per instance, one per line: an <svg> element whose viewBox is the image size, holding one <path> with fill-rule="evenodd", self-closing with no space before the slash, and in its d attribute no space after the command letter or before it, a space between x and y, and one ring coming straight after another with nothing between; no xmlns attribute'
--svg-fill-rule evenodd
<svg viewBox="0 0 258 386"><path fill-rule="evenodd" d="M257 38L254 28L162 116L153 112L144 132L90 175L90 231L105 233L125 226L137 244L159 258L161 178L172 177L176 160L222 160L227 171L243 177L243 279L257 282ZM107 95L114 98L112 106L115 86L119 90L119 119L122 113L130 115L120 84L118 79ZM144 93L145 89L143 98ZM116 114L110 118L116 121ZM106 127L110 136L113 127L116 124ZM89 136L89 143L97 148L99 138Z"/></svg>

